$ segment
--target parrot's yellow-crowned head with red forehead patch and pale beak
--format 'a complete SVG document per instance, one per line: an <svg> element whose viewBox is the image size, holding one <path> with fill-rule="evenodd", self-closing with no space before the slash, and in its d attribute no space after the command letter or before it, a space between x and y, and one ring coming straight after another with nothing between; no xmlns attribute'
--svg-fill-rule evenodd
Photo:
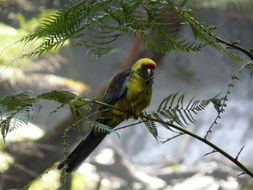
<svg viewBox="0 0 253 190"><path fill-rule="evenodd" d="M131 71L137 73L144 79L153 79L156 63L149 58L139 59L131 68Z"/></svg>

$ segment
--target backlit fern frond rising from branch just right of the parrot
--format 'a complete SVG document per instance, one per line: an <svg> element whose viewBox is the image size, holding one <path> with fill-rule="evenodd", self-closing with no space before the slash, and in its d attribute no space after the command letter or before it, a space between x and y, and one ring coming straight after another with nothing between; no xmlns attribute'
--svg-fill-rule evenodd
<svg viewBox="0 0 253 190"><path fill-rule="evenodd" d="M156 112L152 115L157 119L167 119L171 123L176 123L181 127L185 127L191 123L195 124L195 115L202 111L212 102L213 98L206 100L195 100L192 98L187 104L184 101L185 95L179 92L172 93L164 98ZM165 128L168 128L165 126Z"/></svg>

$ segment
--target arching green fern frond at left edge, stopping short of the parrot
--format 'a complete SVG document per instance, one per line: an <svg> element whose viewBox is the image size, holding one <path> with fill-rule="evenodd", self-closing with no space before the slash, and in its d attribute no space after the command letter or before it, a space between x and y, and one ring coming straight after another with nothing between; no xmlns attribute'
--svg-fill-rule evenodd
<svg viewBox="0 0 253 190"><path fill-rule="evenodd" d="M36 97L27 93L20 93L12 96L4 96L0 98L0 128L3 139L11 130L27 124L32 120L33 115L40 110L40 100L53 100L62 105L68 104L70 108L74 108L78 112L80 107L84 107L87 103L85 99L69 92L69 91L51 91L43 93ZM56 108L58 111L62 105ZM79 113L79 112L78 112Z"/></svg>

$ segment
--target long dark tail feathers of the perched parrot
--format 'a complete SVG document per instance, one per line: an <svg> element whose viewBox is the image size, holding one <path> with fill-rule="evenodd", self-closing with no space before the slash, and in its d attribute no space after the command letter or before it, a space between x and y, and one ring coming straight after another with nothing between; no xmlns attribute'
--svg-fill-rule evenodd
<svg viewBox="0 0 253 190"><path fill-rule="evenodd" d="M66 172L72 172L89 156L105 136L106 133L95 133L94 130L90 131L84 140L79 143L67 159L62 161L57 168L62 169L63 167L66 167Z"/></svg>

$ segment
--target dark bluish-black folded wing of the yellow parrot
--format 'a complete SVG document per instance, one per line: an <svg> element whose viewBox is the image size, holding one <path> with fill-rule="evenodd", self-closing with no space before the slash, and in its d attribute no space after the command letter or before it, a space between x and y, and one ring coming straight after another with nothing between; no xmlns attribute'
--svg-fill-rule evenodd
<svg viewBox="0 0 253 190"><path fill-rule="evenodd" d="M125 96L127 92L126 82L130 74L130 70L127 70L119 73L112 79L103 98L103 102L113 105L123 96Z"/></svg>

